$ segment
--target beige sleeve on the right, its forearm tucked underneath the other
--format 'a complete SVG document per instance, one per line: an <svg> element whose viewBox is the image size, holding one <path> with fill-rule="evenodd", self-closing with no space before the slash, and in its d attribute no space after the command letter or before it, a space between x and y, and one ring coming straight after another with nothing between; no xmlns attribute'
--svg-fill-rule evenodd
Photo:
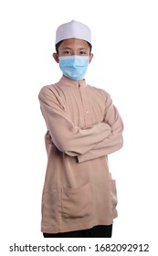
<svg viewBox="0 0 158 256"><path fill-rule="evenodd" d="M123 123L120 113L112 104L111 97L108 94L106 104L106 111L104 115L104 123L111 126L111 133L103 141L96 144L89 152L84 155L78 155L78 161L83 162L98 158L103 155L109 155L119 149L123 145Z"/></svg>

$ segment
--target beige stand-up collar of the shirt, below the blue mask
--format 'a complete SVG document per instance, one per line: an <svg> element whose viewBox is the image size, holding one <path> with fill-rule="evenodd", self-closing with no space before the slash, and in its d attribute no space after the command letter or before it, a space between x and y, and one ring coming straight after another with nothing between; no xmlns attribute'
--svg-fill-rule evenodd
<svg viewBox="0 0 158 256"><path fill-rule="evenodd" d="M68 87L75 87L75 88L84 88L87 86L86 80L70 80L65 76L62 76L61 79L58 81L59 84Z"/></svg>

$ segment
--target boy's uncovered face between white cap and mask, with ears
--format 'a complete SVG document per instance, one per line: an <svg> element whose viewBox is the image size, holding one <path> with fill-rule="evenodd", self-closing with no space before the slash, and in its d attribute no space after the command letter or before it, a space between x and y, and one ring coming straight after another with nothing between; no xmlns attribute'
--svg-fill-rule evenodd
<svg viewBox="0 0 158 256"><path fill-rule="evenodd" d="M93 58L88 42L76 38L63 40L58 48L58 54L53 53L53 58L58 62L59 56L70 55L90 56L90 61Z"/></svg>

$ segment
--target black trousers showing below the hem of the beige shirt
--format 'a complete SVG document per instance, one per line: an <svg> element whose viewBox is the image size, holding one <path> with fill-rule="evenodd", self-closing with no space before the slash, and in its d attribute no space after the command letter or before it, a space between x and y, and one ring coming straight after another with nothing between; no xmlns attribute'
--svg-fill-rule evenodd
<svg viewBox="0 0 158 256"><path fill-rule="evenodd" d="M92 229L76 230L57 234L43 233L44 238L111 238L112 225L95 226Z"/></svg>

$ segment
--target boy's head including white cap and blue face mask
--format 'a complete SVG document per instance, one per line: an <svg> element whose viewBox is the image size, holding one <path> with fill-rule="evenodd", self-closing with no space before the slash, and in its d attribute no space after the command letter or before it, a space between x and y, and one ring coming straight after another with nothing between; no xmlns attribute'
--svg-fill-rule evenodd
<svg viewBox="0 0 158 256"><path fill-rule="evenodd" d="M71 80L82 80L93 58L90 28L75 20L62 24L56 32L55 46L53 58L63 74Z"/></svg>

